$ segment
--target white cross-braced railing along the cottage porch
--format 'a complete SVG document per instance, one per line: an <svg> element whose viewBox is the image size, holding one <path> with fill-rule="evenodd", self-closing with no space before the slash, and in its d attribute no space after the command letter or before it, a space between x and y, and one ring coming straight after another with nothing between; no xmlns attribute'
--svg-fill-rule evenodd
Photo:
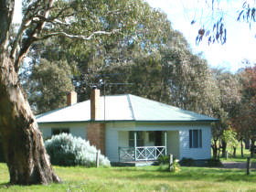
<svg viewBox="0 0 256 192"><path fill-rule="evenodd" d="M135 156L136 154L136 156ZM119 147L119 161L155 161L161 155L166 155L165 146Z"/></svg>

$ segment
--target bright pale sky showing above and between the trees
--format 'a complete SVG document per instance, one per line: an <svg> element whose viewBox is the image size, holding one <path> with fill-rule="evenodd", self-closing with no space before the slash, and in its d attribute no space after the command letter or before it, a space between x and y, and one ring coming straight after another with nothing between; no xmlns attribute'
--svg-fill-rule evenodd
<svg viewBox="0 0 256 192"><path fill-rule="evenodd" d="M219 13L224 14L228 29L227 43L223 46L201 43L196 46L197 31L201 24L211 23L211 10L207 2L211 0L145 0L149 5L160 8L168 16L172 27L183 33L187 38L192 50L195 53L203 52L203 58L208 60L211 67L219 67L236 71L242 67L241 61L249 59L256 62L256 24L249 27L244 22L237 22L238 11L243 1L241 0L220 0ZM217 1L217 0L215 0ZM254 0L251 0L254 2ZM14 20L21 21L21 1L16 0L16 14ZM207 17L205 17L207 16ZM197 23L190 25L193 19ZM206 25L207 27L207 25Z"/></svg>

